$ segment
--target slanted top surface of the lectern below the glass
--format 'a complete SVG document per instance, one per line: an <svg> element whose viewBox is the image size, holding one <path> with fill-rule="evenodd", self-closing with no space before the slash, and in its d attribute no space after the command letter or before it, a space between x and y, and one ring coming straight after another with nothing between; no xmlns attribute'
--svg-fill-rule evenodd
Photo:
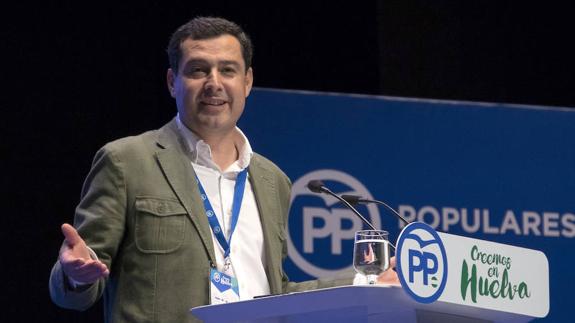
<svg viewBox="0 0 575 323"><path fill-rule="evenodd" d="M401 287L342 286L206 305L191 314L210 322L529 322L533 317L436 301L418 303Z"/></svg>

